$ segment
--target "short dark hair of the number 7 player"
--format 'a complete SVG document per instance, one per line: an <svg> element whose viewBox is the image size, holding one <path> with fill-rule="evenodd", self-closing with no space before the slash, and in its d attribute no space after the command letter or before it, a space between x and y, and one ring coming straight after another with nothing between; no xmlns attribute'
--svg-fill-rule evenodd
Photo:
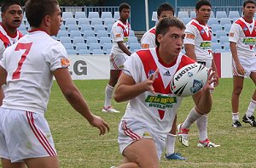
<svg viewBox="0 0 256 168"><path fill-rule="evenodd" d="M55 13L55 6L58 4L57 0L26 1L25 11L29 25L39 27L45 15L52 15Z"/></svg>

